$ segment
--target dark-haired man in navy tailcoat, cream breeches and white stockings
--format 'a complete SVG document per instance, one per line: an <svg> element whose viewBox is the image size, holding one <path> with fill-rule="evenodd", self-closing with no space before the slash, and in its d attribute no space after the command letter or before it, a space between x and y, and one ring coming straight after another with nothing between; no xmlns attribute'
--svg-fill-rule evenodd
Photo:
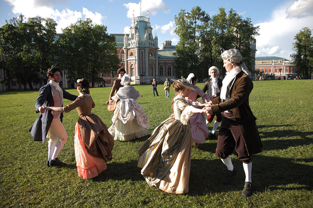
<svg viewBox="0 0 313 208"><path fill-rule="evenodd" d="M29 132L34 141L48 141L47 166L64 166L66 163L58 159L58 155L67 141L67 133L62 124L63 113L45 110L42 106L63 106L63 98L74 101L77 96L69 94L59 86L61 81L61 70L58 67L51 67L47 71L49 82L40 88L36 100L36 113L40 112L38 118L30 128Z"/></svg>

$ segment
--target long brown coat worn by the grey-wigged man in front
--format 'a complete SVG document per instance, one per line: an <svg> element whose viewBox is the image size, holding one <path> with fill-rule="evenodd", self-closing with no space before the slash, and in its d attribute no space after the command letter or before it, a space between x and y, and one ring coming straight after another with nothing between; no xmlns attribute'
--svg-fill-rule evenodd
<svg viewBox="0 0 313 208"><path fill-rule="evenodd" d="M250 77L241 71L235 77L235 82L229 90L230 99L221 102L218 96L212 100L213 105L211 106L213 113L233 110L249 155L262 151L262 143L255 123L256 117L254 117L249 106L249 95L252 88L253 83Z"/></svg>

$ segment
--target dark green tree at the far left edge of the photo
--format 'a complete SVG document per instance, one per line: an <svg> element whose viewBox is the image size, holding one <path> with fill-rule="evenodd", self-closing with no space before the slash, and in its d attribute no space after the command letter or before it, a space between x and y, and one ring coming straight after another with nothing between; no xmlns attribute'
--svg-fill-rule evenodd
<svg viewBox="0 0 313 208"><path fill-rule="evenodd" d="M26 22L21 14L0 28L0 51L5 55L2 63L6 71L4 82L15 77L26 90L27 84L33 89L32 82L42 80L40 72L46 72L52 64L55 27L52 19L32 17Z"/></svg>

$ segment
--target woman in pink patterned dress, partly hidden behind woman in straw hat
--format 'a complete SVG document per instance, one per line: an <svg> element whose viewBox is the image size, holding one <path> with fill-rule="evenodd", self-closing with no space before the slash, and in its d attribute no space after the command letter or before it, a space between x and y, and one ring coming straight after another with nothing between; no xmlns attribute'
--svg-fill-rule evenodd
<svg viewBox="0 0 313 208"><path fill-rule="evenodd" d="M195 91L191 91L188 97L185 97L188 102L192 105L199 105L201 104L197 100L197 95L202 97L202 100L205 102L210 101L210 97L202 92L202 90L195 86L198 82L197 75L190 73L186 79L187 82L192 84L192 87L195 88ZM192 142L193 148L198 147L198 143L204 143L205 139L208 137L209 131L205 120L204 113L195 113L190 117L190 126L191 126L191 134L192 134Z"/></svg>

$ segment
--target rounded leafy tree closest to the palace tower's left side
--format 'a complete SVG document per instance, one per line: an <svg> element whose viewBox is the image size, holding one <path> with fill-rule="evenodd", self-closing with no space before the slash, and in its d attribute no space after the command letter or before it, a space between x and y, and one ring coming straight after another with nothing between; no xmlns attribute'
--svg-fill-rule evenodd
<svg viewBox="0 0 313 208"><path fill-rule="evenodd" d="M92 20L81 19L63 29L55 44L57 65L66 70L69 80L87 78L103 82L99 73L112 73L119 68L115 37L104 25L93 25Z"/></svg>

